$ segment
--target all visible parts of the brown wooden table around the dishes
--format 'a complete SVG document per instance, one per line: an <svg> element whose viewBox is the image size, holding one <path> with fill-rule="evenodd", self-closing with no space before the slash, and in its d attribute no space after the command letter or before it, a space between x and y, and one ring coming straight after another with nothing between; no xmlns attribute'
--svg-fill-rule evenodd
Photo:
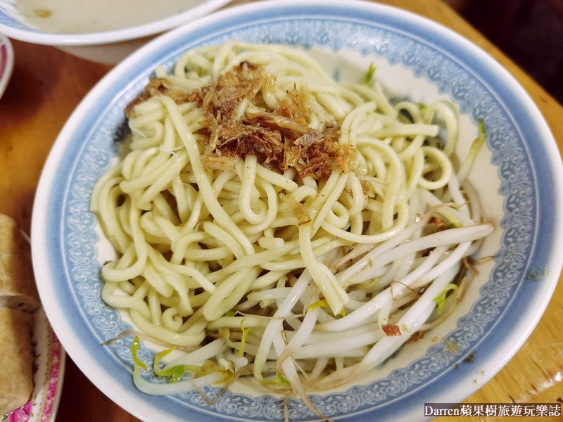
<svg viewBox="0 0 563 422"><path fill-rule="evenodd" d="M244 2L247 1L235 1ZM381 2L435 20L488 51L533 98L547 120L559 150L563 150L563 108L455 11L440 0ZM11 215L29 233L35 189L49 150L72 110L110 70L110 66L81 60L49 46L13 41L13 48L15 69L0 100L0 212ZM563 397L562 321L563 283L560 278L547 311L521 350L466 402L560 401ZM477 418L467 418L467 421L472 419ZM526 418L526 421L531 420L533 418ZM138 419L103 395L68 359L56 421L125 422Z"/></svg>

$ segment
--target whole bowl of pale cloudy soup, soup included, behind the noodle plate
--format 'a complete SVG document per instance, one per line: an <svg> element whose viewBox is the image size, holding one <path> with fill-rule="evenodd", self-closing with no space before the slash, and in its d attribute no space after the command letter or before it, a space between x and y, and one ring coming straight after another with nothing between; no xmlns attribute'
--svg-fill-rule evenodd
<svg viewBox="0 0 563 422"><path fill-rule="evenodd" d="M0 32L115 64L156 34L201 18L229 1L7 0L0 3Z"/></svg>

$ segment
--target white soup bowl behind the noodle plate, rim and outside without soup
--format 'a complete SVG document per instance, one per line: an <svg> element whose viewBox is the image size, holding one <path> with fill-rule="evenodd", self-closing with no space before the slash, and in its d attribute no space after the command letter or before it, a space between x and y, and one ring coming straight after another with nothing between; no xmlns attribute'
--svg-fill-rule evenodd
<svg viewBox="0 0 563 422"><path fill-rule="evenodd" d="M176 15L154 22L106 32L54 34L30 27L15 6L16 0L0 1L0 33L33 44L56 46L87 60L115 64L153 39L156 34L179 27L211 13L232 0L201 0ZM110 13L110 11L108 11Z"/></svg>

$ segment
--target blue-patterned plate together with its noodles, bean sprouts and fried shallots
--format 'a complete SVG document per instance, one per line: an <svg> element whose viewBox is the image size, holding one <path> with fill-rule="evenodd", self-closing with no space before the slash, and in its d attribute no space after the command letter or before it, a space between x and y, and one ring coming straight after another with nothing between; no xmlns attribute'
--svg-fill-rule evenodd
<svg viewBox="0 0 563 422"><path fill-rule="evenodd" d="M232 8L144 46L70 117L34 205L40 294L146 421L416 420L486 383L545 309L558 156L517 82L429 20Z"/></svg>

